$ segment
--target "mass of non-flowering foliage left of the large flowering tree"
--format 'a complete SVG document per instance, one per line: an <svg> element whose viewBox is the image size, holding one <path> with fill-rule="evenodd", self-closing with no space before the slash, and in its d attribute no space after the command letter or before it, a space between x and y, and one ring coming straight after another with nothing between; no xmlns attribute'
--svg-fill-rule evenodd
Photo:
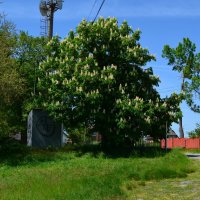
<svg viewBox="0 0 200 200"><path fill-rule="evenodd" d="M26 117L34 106L39 63L45 58L47 39L15 32L0 16L0 137L26 132Z"/></svg>

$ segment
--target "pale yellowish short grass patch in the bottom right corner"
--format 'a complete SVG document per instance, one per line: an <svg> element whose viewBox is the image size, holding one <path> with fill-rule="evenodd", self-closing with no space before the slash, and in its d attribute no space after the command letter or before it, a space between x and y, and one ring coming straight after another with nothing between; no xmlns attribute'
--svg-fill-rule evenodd
<svg viewBox="0 0 200 200"><path fill-rule="evenodd" d="M128 181L121 187L127 200L199 200L200 197L200 160L193 160L195 172L187 177Z"/></svg>

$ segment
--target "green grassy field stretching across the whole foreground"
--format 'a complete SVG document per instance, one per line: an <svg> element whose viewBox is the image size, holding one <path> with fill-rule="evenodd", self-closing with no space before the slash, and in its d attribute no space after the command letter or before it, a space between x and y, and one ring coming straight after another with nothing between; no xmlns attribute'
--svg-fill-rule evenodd
<svg viewBox="0 0 200 200"><path fill-rule="evenodd" d="M171 189L175 199L186 188L191 191L200 178L193 180L200 172L178 150L117 156L94 149L20 148L0 149L1 200L160 200L173 199L168 198Z"/></svg>

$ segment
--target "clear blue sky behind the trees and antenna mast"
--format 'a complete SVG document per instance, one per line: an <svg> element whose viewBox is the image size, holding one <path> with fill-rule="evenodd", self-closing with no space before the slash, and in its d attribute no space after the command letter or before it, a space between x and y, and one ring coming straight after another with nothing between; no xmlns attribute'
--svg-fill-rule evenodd
<svg viewBox="0 0 200 200"><path fill-rule="evenodd" d="M0 12L4 12L17 30L27 31L30 35L40 35L39 0L2 0ZM70 29L75 29L82 19L93 20L102 0L91 12L94 0L65 0L63 9L55 13L54 34L67 36ZM157 61L149 63L154 73L159 75L161 84L158 88L162 97L180 91L181 76L167 66L161 57L165 44L176 47L183 37L189 37L200 52L200 1L199 0L106 0L100 16L117 17L119 23L127 20L133 30L142 31L141 44L156 55ZM185 133L195 128L200 122L200 114L196 114L185 103L183 126ZM178 133L178 125L173 129ZM187 136L187 134L186 134Z"/></svg>

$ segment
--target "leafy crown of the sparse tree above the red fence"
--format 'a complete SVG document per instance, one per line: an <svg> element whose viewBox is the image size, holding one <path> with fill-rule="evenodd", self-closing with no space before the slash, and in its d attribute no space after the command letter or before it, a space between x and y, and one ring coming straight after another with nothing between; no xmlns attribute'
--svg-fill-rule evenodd
<svg viewBox="0 0 200 200"><path fill-rule="evenodd" d="M196 45L188 38L183 38L176 48L165 45L163 57L168 59L173 70L182 74L186 102L193 111L200 112L200 53L196 53Z"/></svg>

